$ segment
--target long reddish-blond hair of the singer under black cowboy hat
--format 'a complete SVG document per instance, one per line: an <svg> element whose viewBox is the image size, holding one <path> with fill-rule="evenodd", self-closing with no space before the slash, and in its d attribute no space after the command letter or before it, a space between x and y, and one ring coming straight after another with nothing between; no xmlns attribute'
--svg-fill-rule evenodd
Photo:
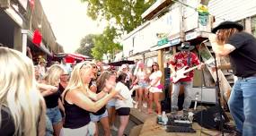
<svg viewBox="0 0 256 136"><path fill-rule="evenodd" d="M216 42L219 45L224 45L227 43L227 40L234 35L234 33L239 32L239 30L232 29L221 29L216 31Z"/></svg>

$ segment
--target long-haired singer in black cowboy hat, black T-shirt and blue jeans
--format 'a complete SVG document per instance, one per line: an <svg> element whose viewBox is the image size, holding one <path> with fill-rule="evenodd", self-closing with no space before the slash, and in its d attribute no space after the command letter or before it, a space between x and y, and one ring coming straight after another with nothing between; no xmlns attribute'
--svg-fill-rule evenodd
<svg viewBox="0 0 256 136"><path fill-rule="evenodd" d="M212 30L209 40L216 55L229 55L238 80L228 101L237 135L256 135L256 38L234 21L224 21Z"/></svg>

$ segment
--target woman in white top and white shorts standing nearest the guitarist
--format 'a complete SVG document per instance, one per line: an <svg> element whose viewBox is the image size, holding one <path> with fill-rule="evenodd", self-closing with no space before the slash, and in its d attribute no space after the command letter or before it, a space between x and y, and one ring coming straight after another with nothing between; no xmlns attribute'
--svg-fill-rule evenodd
<svg viewBox="0 0 256 136"><path fill-rule="evenodd" d="M149 86L149 106L148 113L152 113L152 103L154 101L157 115L161 115L161 105L159 102L160 94L162 93L162 89L160 88L160 80L162 77L162 72L159 70L159 64L153 63L151 75L149 76L150 86Z"/></svg>

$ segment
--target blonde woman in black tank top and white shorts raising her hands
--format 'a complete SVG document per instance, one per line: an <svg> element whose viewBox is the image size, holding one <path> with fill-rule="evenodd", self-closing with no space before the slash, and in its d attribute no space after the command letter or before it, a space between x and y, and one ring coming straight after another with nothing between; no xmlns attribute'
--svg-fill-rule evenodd
<svg viewBox="0 0 256 136"><path fill-rule="evenodd" d="M92 78L91 64L75 65L62 95L66 119L61 135L93 135L95 125L91 123L90 113L97 112L108 103L110 98L116 96L117 91L113 89L113 83L110 81L105 82L106 85L100 93L93 93L89 89Z"/></svg>

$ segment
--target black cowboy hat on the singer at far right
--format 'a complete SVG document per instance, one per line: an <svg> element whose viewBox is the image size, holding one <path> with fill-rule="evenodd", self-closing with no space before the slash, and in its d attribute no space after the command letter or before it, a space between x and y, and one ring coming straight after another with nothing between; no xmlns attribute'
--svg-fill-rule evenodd
<svg viewBox="0 0 256 136"><path fill-rule="evenodd" d="M212 33L216 33L217 30L231 29L231 28L235 28L239 31L242 31L243 30L243 25L241 25L241 24L239 24L238 22L235 22L235 21L223 21L212 30Z"/></svg>

